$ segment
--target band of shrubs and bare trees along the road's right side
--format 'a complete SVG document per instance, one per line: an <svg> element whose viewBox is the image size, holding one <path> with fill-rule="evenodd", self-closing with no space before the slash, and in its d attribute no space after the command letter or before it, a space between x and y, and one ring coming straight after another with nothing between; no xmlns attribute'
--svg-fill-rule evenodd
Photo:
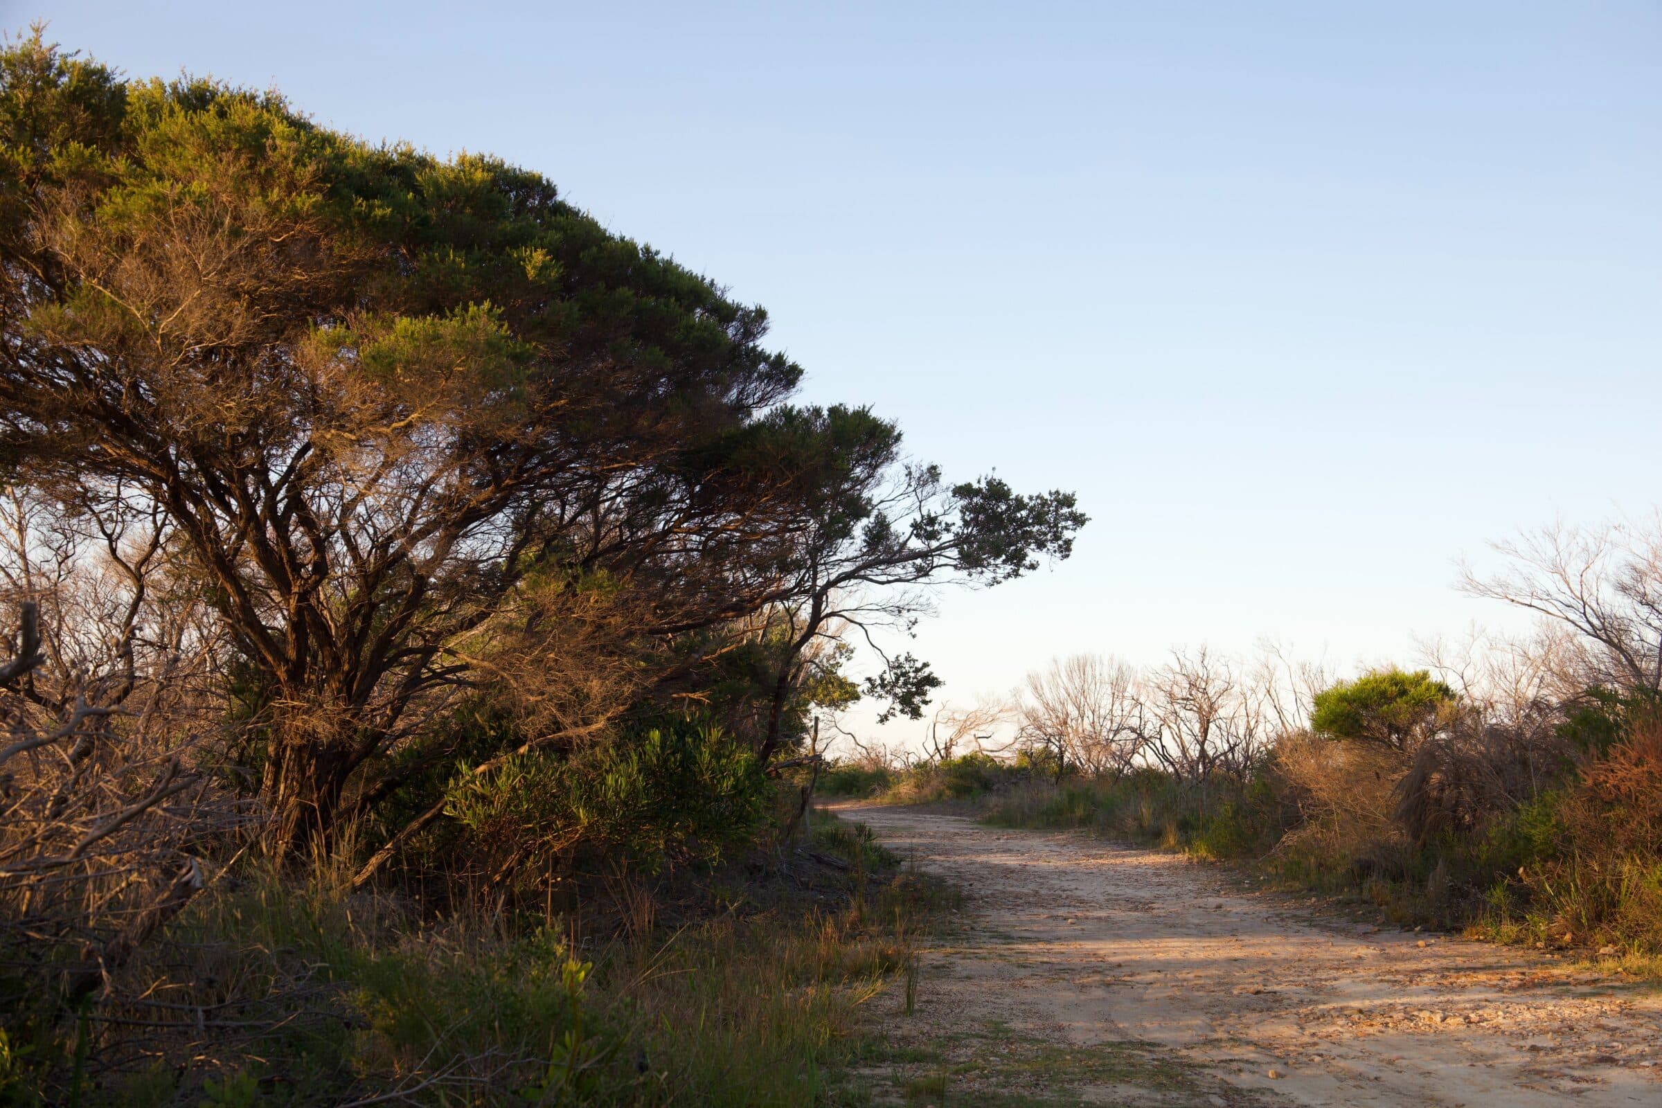
<svg viewBox="0 0 1662 1108"><path fill-rule="evenodd" d="M823 782L1245 862L1403 924L1655 972L1662 523L1502 552L1512 568L1466 588L1539 613L1532 638L1429 645L1423 668L1350 679L1276 653L1069 658L1010 704L937 713L924 756L868 749Z"/></svg>

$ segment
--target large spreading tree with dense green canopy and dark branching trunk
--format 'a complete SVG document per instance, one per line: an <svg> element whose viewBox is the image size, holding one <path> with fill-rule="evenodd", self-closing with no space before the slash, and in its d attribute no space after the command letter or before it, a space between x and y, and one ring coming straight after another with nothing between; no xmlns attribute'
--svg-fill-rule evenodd
<svg viewBox="0 0 1662 1108"><path fill-rule="evenodd" d="M577 708L530 741L572 741L758 613L803 618L789 684L841 598L1014 576L1084 522L788 407L761 309L500 161L38 33L0 53L0 465L161 513L246 666L279 847L386 792L420 708L482 674L622 658L615 694L543 698Z"/></svg>

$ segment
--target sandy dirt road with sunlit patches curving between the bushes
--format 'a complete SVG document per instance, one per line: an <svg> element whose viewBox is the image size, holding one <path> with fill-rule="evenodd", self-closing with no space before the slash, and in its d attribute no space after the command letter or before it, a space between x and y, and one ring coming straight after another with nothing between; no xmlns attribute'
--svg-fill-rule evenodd
<svg viewBox="0 0 1662 1108"><path fill-rule="evenodd" d="M916 1012L884 998L879 1096L1662 1108L1655 987L1360 922L1170 854L838 807L966 892Z"/></svg>

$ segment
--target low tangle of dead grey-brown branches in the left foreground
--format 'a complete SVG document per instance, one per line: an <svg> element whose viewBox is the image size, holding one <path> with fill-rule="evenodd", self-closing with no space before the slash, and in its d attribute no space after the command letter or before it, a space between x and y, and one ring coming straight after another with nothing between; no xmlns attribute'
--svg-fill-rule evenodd
<svg viewBox="0 0 1662 1108"><path fill-rule="evenodd" d="M168 728L163 694L116 706L81 684L42 696L35 605L0 713L0 967L8 1010L75 1007L203 889L203 839L231 809ZM131 703L131 701L128 701ZM213 826L211 826L213 824Z"/></svg>

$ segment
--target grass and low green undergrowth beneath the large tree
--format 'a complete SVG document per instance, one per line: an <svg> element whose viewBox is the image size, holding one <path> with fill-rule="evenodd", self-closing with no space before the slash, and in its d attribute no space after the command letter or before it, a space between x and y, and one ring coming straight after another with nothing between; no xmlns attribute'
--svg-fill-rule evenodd
<svg viewBox="0 0 1662 1108"><path fill-rule="evenodd" d="M507 915L420 919L249 867L199 899L103 1013L120 1075L85 1081L73 1030L0 1042L5 1105L813 1105L858 1098L841 1068L861 1005L914 965L954 894L869 829L814 817L808 856L711 874L675 927L585 935ZM647 887L637 887L650 897ZM643 924L643 925L642 925ZM151 1025L151 1027L141 1027ZM55 1035L55 1038L53 1038ZM85 1047L83 1047L85 1050ZM148 1055L148 1057L146 1057Z"/></svg>

